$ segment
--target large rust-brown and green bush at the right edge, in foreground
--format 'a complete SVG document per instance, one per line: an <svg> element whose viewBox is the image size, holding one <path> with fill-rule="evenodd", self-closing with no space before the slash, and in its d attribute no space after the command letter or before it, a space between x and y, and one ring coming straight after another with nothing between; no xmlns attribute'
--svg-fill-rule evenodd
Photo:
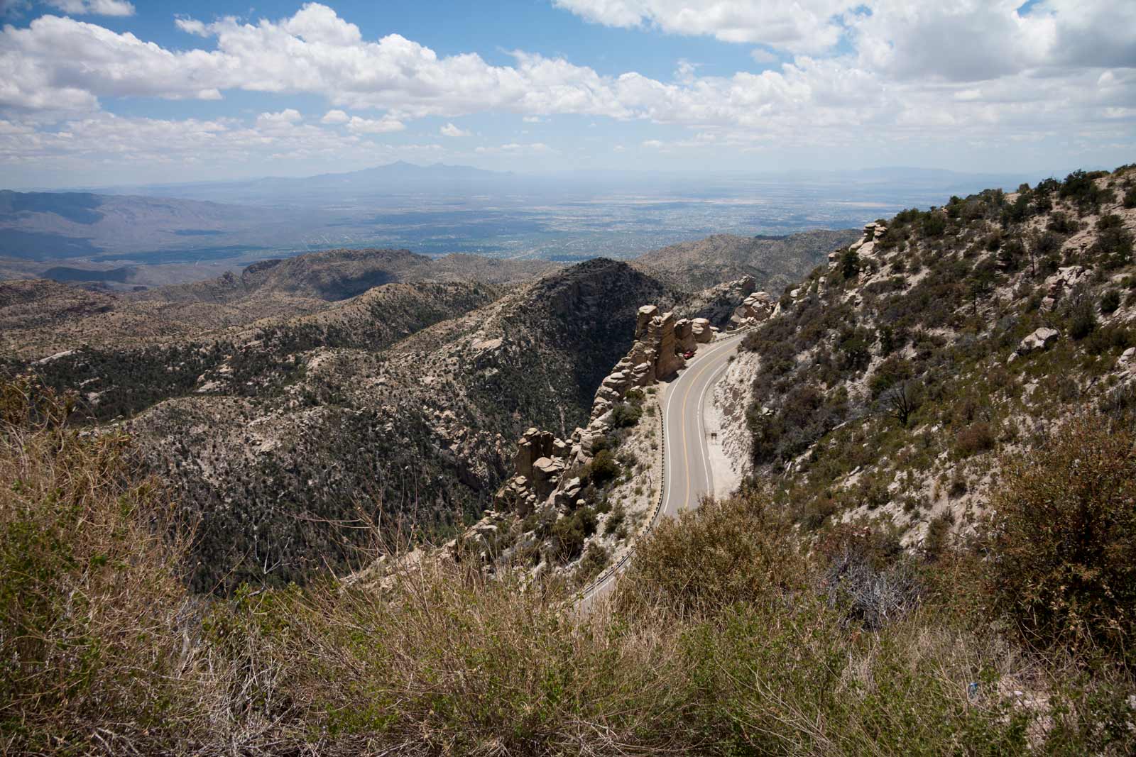
<svg viewBox="0 0 1136 757"><path fill-rule="evenodd" d="M989 587L1042 645L1099 645L1136 659L1136 436L1080 418L1033 455L1003 461L991 495Z"/></svg>

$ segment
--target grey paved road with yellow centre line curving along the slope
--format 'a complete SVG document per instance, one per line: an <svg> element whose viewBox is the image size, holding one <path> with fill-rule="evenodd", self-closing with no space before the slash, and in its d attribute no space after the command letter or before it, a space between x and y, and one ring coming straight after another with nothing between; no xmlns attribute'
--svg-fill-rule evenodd
<svg viewBox="0 0 1136 757"><path fill-rule="evenodd" d="M737 353L742 336L730 335L700 345L698 353L686 362L686 368L662 396L662 502L654 511L648 530L654 528L660 518L698 507L702 496L713 491L702 407L711 387L726 371L729 359ZM615 587L616 579L633 555L634 547L583 590L578 603L582 611L586 612Z"/></svg>

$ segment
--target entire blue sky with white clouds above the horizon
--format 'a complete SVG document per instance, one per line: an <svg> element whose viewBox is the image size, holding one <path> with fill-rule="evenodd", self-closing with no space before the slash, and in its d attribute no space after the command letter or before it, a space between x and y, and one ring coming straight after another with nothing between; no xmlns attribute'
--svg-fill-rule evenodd
<svg viewBox="0 0 1136 757"><path fill-rule="evenodd" d="M6 186L1136 160L1136 3L0 0Z"/></svg>

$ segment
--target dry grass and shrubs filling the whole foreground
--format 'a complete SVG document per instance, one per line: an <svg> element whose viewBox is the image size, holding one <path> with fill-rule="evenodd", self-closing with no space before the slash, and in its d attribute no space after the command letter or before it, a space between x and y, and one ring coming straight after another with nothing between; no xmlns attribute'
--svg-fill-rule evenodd
<svg viewBox="0 0 1136 757"><path fill-rule="evenodd" d="M0 397L7 751L1136 747L1130 420L1056 429L1041 472L1008 459L993 495L1006 508L934 550L861 527L809 548L766 491L707 501L580 616L559 584L521 590L460 561L407 565L382 589L191 594L192 532L131 440L83 434L70 397L26 379Z"/></svg>

